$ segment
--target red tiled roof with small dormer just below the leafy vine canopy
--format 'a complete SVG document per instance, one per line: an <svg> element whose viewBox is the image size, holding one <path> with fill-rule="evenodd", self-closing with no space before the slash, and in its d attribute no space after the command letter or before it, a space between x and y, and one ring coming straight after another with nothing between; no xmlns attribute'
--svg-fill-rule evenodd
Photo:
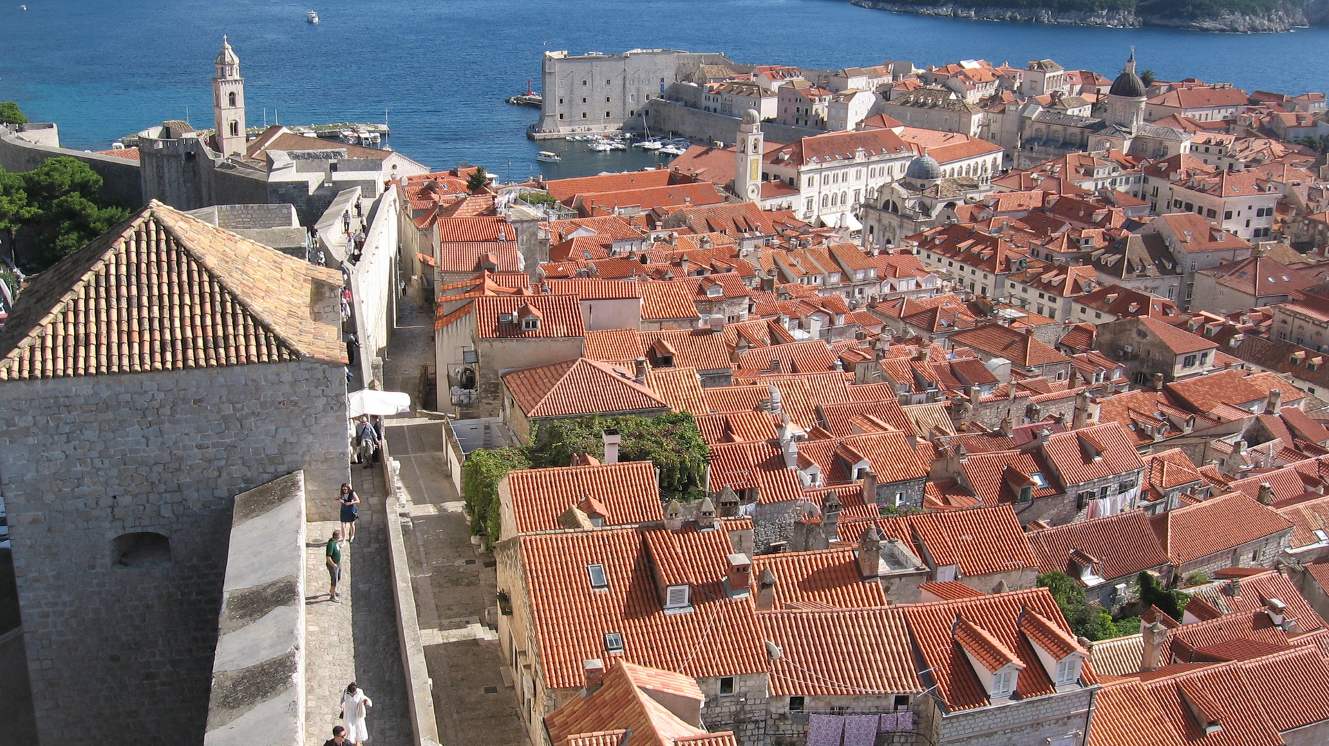
<svg viewBox="0 0 1329 746"><path fill-rule="evenodd" d="M498 490L510 498L520 534L562 528L558 516L587 498L602 508L605 526L662 518L655 466L649 461L516 470L502 478Z"/></svg>

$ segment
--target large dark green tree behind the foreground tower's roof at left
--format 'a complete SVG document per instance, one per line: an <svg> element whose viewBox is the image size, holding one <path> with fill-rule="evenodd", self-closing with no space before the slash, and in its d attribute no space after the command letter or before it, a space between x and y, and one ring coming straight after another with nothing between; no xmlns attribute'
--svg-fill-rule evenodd
<svg viewBox="0 0 1329 746"><path fill-rule="evenodd" d="M19 174L28 199L23 227L32 231L44 269L109 231L129 211L104 199L102 179L74 158L51 158Z"/></svg>

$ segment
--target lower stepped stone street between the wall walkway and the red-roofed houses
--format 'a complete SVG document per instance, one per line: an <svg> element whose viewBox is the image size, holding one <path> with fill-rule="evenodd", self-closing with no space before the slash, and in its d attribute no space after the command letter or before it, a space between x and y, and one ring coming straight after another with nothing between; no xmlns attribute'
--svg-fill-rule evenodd
<svg viewBox="0 0 1329 746"><path fill-rule="evenodd" d="M384 366L389 390L416 397L420 366L433 365L432 321L413 304L403 307ZM461 500L445 475L443 418L412 413L385 423L408 492L411 520L403 527L439 738L444 746L524 746L526 729L497 633L484 624L485 609L496 605L493 556L470 544Z"/></svg>

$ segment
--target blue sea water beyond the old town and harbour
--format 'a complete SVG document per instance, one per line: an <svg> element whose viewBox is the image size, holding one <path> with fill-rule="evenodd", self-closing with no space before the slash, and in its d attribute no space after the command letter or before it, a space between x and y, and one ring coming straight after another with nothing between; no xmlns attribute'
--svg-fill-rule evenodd
<svg viewBox="0 0 1329 746"><path fill-rule="evenodd" d="M1051 57L1114 74L1135 46L1160 80L1248 90L1329 89L1329 29L1216 35L894 15L843 0L0 0L0 101L58 122L62 145L105 149L185 118L211 123L213 58L223 33L241 56L251 126L334 121L392 126L391 145L431 166L484 165L512 178L655 162L567 143L534 161L534 109L504 98L540 84L546 49L726 52L744 62L817 68L961 58L1023 65ZM318 11L320 24L304 17Z"/></svg>

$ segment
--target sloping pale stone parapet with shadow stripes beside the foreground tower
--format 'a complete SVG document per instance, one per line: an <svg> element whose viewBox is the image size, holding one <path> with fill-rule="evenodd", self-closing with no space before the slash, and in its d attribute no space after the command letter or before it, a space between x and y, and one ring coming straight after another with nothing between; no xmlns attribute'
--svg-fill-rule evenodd
<svg viewBox="0 0 1329 746"><path fill-rule="evenodd" d="M203 746L304 746L304 473L235 495Z"/></svg>

